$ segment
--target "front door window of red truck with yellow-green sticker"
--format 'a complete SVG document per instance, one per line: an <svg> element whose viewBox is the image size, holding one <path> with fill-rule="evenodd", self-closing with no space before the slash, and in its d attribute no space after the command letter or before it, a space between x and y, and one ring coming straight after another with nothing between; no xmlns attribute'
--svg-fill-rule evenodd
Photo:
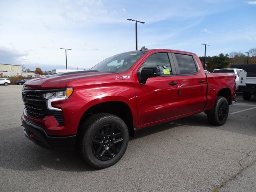
<svg viewBox="0 0 256 192"><path fill-rule="evenodd" d="M155 53L151 55L144 64L138 70L138 73L141 73L142 68L144 67L152 67L159 66L161 71L161 76L169 76L172 75L172 69L170 66L170 61L167 53Z"/></svg>

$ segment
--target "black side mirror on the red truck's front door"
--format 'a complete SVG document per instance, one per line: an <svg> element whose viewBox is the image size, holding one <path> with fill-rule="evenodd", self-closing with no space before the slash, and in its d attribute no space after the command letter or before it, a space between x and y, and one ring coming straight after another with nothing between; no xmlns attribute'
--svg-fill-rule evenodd
<svg viewBox="0 0 256 192"><path fill-rule="evenodd" d="M158 66L144 67L142 68L141 73L138 74L138 80L140 83L145 84L148 78L160 75L161 71Z"/></svg>

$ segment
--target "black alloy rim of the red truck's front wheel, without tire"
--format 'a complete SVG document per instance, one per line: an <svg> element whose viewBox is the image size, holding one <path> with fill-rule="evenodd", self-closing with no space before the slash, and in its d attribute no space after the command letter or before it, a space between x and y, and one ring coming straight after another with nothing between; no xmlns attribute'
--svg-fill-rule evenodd
<svg viewBox="0 0 256 192"><path fill-rule="evenodd" d="M106 124L92 139L92 153L98 160L110 160L120 151L122 141L119 128L114 124Z"/></svg>

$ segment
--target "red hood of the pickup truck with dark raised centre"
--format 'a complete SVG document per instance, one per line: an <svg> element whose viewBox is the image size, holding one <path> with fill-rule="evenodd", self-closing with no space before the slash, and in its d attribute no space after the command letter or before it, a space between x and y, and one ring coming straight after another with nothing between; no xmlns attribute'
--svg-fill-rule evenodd
<svg viewBox="0 0 256 192"><path fill-rule="evenodd" d="M56 89L65 88L68 82L72 80L77 80L81 78L90 78L95 76L110 75L108 72L98 72L98 71L77 71L77 72L62 72L44 76L41 78L36 78L28 80L24 83L24 88L26 89Z"/></svg>

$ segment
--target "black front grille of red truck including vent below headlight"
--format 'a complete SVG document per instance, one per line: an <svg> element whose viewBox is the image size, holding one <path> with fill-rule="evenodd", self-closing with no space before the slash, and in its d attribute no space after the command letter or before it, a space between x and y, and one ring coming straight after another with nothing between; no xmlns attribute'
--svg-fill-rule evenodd
<svg viewBox="0 0 256 192"><path fill-rule="evenodd" d="M22 99L28 116L43 119L54 115L60 125L63 125L62 111L48 110L46 100L43 98L44 91L23 90Z"/></svg>

